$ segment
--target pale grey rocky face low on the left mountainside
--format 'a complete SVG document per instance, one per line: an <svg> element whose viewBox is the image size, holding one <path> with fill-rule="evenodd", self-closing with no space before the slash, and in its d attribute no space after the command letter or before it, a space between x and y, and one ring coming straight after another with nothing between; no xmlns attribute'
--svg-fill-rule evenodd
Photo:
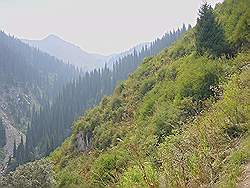
<svg viewBox="0 0 250 188"><path fill-rule="evenodd" d="M11 87L0 85L0 117L6 131L6 145L4 146L5 159L1 163L6 164L9 156L12 156L14 140L18 145L25 135L21 130L25 130L27 122L30 121L30 107L38 103L31 92L25 91L21 87Z"/></svg>

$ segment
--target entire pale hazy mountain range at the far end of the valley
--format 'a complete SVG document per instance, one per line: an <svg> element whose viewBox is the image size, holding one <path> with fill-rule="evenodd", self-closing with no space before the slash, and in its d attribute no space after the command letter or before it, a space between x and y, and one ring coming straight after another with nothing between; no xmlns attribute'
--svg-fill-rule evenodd
<svg viewBox="0 0 250 188"><path fill-rule="evenodd" d="M151 45L151 42L144 42L135 45L124 52L104 56L85 52L80 47L64 41L56 35L49 35L42 40L22 39L22 41L32 47L38 48L41 51L63 60L65 63L81 67L83 71L92 71L94 69L103 68L105 64L112 69L113 63L119 60L119 58L133 54L134 51L140 52L143 47L150 47Z"/></svg>

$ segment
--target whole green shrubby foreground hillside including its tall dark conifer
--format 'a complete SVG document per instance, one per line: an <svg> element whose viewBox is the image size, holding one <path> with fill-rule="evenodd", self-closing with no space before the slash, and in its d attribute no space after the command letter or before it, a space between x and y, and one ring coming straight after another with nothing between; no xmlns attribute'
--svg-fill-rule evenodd
<svg viewBox="0 0 250 188"><path fill-rule="evenodd" d="M75 121L62 146L0 185L236 187L250 162L249 7L203 4L196 26Z"/></svg>

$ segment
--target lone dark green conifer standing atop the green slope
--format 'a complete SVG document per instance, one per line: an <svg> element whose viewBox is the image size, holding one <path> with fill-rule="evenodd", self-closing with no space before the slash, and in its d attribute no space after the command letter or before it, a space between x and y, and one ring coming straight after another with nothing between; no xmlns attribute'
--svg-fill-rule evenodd
<svg viewBox="0 0 250 188"><path fill-rule="evenodd" d="M207 3L203 4L199 10L195 38L196 49L200 55L208 53L219 57L229 53L224 30L216 21L212 7Z"/></svg>

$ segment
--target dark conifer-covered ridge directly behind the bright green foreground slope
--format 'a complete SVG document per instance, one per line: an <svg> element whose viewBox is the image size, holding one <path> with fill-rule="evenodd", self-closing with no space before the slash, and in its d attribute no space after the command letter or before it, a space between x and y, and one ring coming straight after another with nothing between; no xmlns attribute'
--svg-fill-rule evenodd
<svg viewBox="0 0 250 188"><path fill-rule="evenodd" d="M110 95L116 84L127 79L145 57L168 47L186 30L186 26L183 25L181 29L155 40L150 48L142 48L140 52L134 51L133 54L119 59L113 64L112 69L105 66L102 69L87 72L64 86L52 105L47 104L40 112L33 113L31 126L26 134L25 159L18 163L22 164L46 156L61 145L70 135L75 118L98 104L103 96Z"/></svg>

